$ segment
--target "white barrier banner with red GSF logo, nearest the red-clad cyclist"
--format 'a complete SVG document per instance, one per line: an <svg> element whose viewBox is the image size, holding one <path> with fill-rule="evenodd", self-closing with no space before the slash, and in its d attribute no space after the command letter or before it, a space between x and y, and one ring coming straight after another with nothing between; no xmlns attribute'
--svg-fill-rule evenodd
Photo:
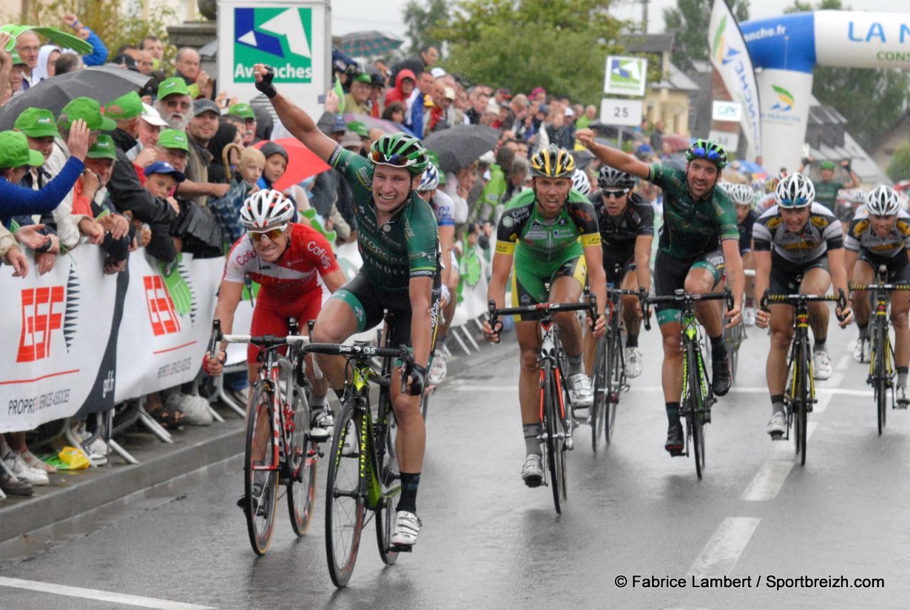
<svg viewBox="0 0 910 610"><path fill-rule="evenodd" d="M129 258L117 340L117 402L196 378L208 349L224 260L185 254L165 273L154 259L135 253Z"/></svg>

